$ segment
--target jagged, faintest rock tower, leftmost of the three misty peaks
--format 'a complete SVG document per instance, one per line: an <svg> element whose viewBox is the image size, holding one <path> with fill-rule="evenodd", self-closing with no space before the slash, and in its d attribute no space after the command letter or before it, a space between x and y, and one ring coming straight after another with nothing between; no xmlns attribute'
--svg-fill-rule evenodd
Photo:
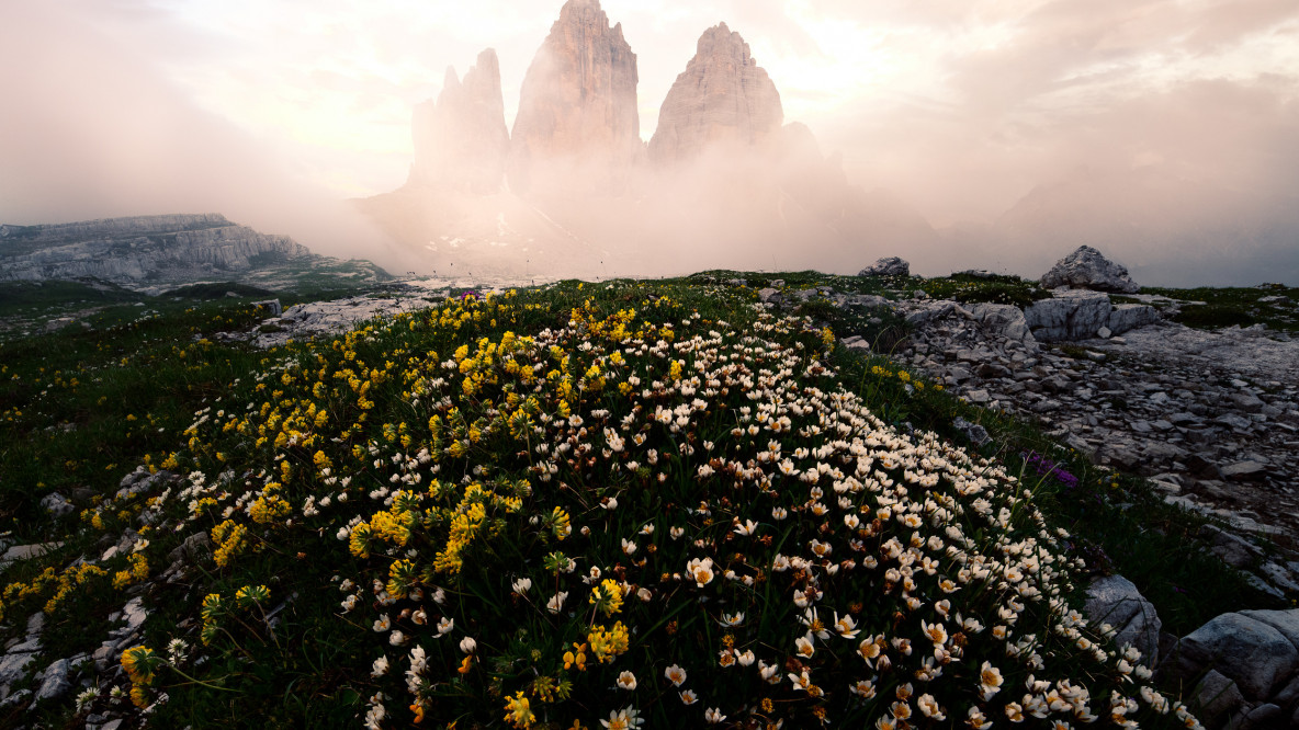
<svg viewBox="0 0 1299 730"><path fill-rule="evenodd" d="M416 105L413 135L410 184L483 195L500 190L509 131L494 49L478 55L462 82L453 68L447 69L438 100Z"/></svg>

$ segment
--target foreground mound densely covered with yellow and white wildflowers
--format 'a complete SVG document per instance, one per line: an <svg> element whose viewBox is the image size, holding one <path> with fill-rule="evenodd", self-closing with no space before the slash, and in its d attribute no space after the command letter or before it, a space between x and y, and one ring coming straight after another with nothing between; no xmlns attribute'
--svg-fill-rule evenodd
<svg viewBox="0 0 1299 730"><path fill-rule="evenodd" d="M883 422L809 320L638 288L268 359L145 514L207 531L222 574L316 540L369 727L1189 718L1068 605L1081 561L999 462Z"/></svg>

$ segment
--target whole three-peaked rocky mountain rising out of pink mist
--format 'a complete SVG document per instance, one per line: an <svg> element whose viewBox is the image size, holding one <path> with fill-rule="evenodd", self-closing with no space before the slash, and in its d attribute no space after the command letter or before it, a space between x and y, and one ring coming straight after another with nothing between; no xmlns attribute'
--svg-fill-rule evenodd
<svg viewBox="0 0 1299 730"><path fill-rule="evenodd" d="M648 144L637 56L598 0L560 9L509 135L498 73L491 52L464 82L452 71L416 112L407 184L356 201L439 274L668 275L731 265L735 251L850 270L872 244L939 242L914 209L851 184L807 126L785 123L776 83L726 23L699 38Z"/></svg>

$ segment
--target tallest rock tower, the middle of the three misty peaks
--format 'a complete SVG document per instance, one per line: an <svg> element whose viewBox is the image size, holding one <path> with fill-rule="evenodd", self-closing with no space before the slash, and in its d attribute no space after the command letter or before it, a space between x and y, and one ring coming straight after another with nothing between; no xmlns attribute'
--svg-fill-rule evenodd
<svg viewBox="0 0 1299 730"><path fill-rule="evenodd" d="M516 192L617 192L643 149L637 56L599 0L569 0L527 69L507 173Z"/></svg>

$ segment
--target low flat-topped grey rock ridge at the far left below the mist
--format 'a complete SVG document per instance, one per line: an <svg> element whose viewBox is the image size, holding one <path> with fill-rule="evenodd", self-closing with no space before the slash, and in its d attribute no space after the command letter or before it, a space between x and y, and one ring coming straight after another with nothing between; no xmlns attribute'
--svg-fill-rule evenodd
<svg viewBox="0 0 1299 730"><path fill-rule="evenodd" d="M274 284L312 273L352 281L387 275L370 262L317 256L288 236L217 213L0 226L0 281L94 278L157 290L233 278Z"/></svg>

